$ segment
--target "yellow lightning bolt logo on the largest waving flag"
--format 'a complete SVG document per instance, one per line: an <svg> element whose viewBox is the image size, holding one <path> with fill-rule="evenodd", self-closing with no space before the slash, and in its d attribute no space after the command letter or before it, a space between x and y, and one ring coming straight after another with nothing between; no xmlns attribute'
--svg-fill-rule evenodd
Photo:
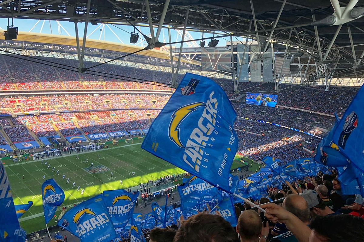
<svg viewBox="0 0 364 242"><path fill-rule="evenodd" d="M182 121L193 111L195 111L198 107L206 107L206 104L203 102L195 102L191 104L187 104L183 107L178 108L172 114L171 122L169 124L169 138L177 144L181 148L186 148L179 139L179 125Z"/></svg>

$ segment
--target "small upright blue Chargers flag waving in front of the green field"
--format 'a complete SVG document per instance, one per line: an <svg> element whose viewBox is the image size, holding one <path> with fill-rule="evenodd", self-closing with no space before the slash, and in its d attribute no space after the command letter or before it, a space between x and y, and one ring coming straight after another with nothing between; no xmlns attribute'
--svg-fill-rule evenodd
<svg viewBox="0 0 364 242"><path fill-rule="evenodd" d="M57 182L52 178L42 184L42 201L44 210L44 220L51 221L56 213L57 206L64 201L64 192Z"/></svg>

